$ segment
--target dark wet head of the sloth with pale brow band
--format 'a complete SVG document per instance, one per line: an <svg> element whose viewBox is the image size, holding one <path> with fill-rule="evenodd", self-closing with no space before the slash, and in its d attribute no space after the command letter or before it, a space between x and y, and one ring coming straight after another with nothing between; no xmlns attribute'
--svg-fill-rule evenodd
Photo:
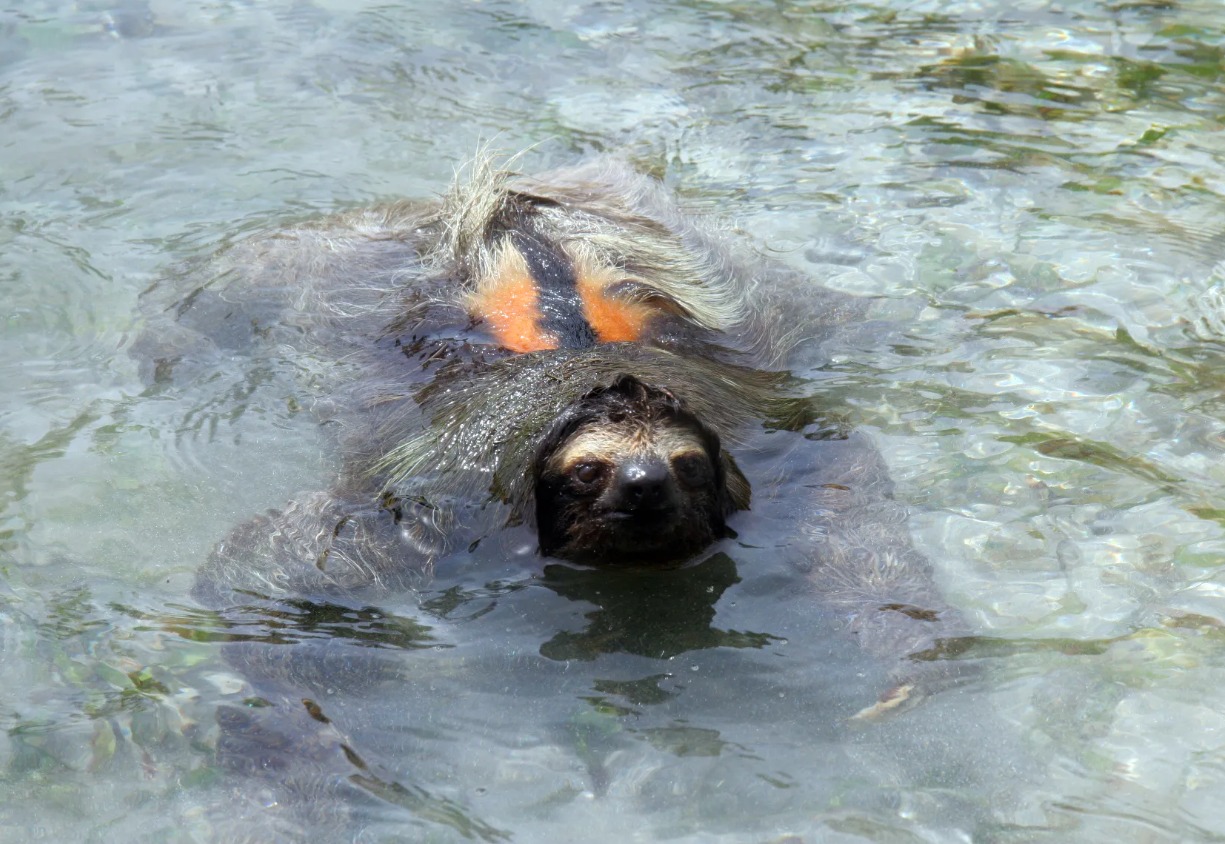
<svg viewBox="0 0 1225 844"><path fill-rule="evenodd" d="M535 463L540 551L588 563L663 563L726 534L735 510L719 437L632 376L577 403Z"/></svg>

